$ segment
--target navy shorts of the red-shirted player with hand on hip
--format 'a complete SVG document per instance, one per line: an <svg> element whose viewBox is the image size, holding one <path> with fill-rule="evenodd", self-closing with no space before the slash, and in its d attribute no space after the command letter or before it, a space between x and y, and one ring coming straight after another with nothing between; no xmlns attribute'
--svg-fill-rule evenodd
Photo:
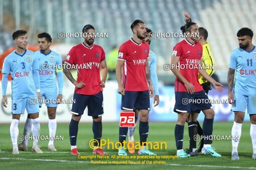
<svg viewBox="0 0 256 170"><path fill-rule="evenodd" d="M88 115L98 117L104 114L103 111L103 93L102 91L94 95L83 95L74 92L74 103L72 104L71 113L82 115L86 106Z"/></svg>

